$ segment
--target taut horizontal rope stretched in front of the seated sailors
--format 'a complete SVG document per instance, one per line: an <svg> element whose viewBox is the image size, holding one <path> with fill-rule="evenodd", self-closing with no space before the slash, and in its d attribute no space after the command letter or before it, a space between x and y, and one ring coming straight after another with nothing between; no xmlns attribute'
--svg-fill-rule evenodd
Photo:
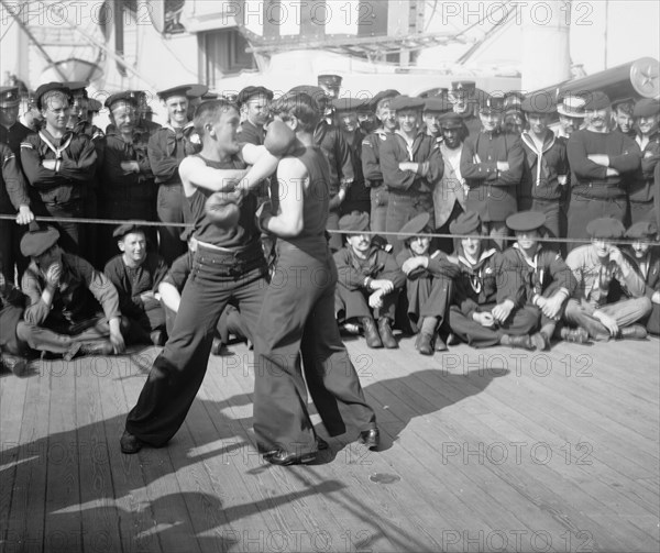
<svg viewBox="0 0 660 553"><path fill-rule="evenodd" d="M15 221L16 215L10 214L0 214L0 220ZM82 223L82 224L109 224L109 225L120 225L120 224L138 224L140 226L176 226L180 229L191 229L194 226L193 223L164 223L162 221L144 221L144 220L134 220L134 219L86 219L86 218L74 218L74 217L35 217L35 221L40 222L58 222L58 223ZM26 225L25 225L26 226ZM375 231L360 231L359 233L355 231L341 231L341 230L329 230L330 234L369 234L370 236L395 236L403 237L404 240L414 237L414 236L428 236L430 239L473 239L474 234L442 234L442 233L410 233L410 232L375 232ZM502 240L506 242L516 242L518 239L516 236L491 236L491 235L480 235L482 240ZM559 237L547 237L539 236L535 239L536 242L548 242L550 244L591 244L591 239L559 239ZM630 245L635 242L631 239L619 239L619 240L608 240L608 242L613 244L624 244ZM660 241L651 241L649 242L651 246L660 246Z"/></svg>

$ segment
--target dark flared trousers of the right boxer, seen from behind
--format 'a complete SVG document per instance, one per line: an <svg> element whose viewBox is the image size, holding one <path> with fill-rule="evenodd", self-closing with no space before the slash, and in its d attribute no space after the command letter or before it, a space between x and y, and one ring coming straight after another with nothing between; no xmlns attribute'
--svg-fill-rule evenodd
<svg viewBox="0 0 660 553"><path fill-rule="evenodd" d="M361 431L376 423L334 321L334 261L323 242L315 248L311 255L278 242L254 336L254 432L261 452L317 451L305 381L330 435L344 433L346 422Z"/></svg>

